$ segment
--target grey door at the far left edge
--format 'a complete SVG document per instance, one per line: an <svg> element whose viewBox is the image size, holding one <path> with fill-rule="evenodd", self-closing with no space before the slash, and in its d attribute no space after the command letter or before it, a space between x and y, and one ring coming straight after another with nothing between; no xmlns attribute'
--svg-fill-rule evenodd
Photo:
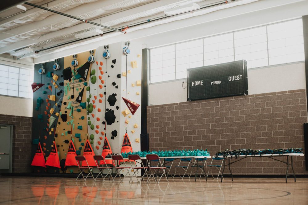
<svg viewBox="0 0 308 205"><path fill-rule="evenodd" d="M0 172L12 172L13 125L0 124Z"/></svg>

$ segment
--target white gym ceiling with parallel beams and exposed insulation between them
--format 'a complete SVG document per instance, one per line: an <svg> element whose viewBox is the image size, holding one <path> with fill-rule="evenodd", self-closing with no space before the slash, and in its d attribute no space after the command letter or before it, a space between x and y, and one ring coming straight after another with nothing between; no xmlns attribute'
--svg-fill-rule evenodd
<svg viewBox="0 0 308 205"><path fill-rule="evenodd" d="M14 56L15 59L26 57L38 58L51 53L72 49L76 46L111 39L125 32L146 30L150 27L180 21L194 16L206 15L227 10L231 7L266 2L267 0L29 0L28 3L68 14L87 23L69 18L51 11L22 3L26 11L16 7L20 0L11 0L0 9L0 55ZM306 0L276 1L302 2ZM24 1L22 1L24 2ZM271 1L273 2L273 1ZM164 11L197 3L199 10L165 15ZM277 3L278 4L278 3ZM234 14L230 14L234 15ZM112 27L123 32L114 31L90 24L94 22ZM128 28L126 27L128 26ZM125 29L126 28L126 29ZM102 30L103 34L93 34L88 38L76 38L76 34L87 31ZM163 31L161 31L163 32ZM30 49L25 49L30 48ZM23 50L22 50L23 49ZM25 51L21 53L20 51ZM21 54L20 54L21 53Z"/></svg>

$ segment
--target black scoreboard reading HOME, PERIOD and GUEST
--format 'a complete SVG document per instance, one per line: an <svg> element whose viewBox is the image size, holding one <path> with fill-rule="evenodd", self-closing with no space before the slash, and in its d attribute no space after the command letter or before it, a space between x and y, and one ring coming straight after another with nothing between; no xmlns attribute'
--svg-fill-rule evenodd
<svg viewBox="0 0 308 205"><path fill-rule="evenodd" d="M247 61L187 69L187 101L238 95L248 95Z"/></svg>

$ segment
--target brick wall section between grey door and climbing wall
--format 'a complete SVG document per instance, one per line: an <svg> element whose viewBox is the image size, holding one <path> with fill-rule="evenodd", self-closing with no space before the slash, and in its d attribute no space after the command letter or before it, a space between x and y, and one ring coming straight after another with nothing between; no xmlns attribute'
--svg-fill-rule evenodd
<svg viewBox="0 0 308 205"><path fill-rule="evenodd" d="M13 125L12 172L30 172L32 117L0 115L0 124Z"/></svg>

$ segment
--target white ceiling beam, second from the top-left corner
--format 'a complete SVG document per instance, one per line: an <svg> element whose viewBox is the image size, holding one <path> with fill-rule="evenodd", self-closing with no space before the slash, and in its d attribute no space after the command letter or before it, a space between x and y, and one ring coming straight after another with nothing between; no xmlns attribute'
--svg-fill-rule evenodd
<svg viewBox="0 0 308 205"><path fill-rule="evenodd" d="M101 10L103 7L110 6L119 2L123 2L123 0L105 0L105 1L97 1L88 4L83 4L82 6L75 7L73 9L67 10L65 13L72 16L82 15L89 12L93 12L95 10ZM99 9L98 9L99 8ZM43 19L42 21L32 22L30 24L18 26L14 29L7 30L5 33L2 33L0 36L0 41L10 38L12 36L22 35L33 30L37 30L42 27L46 27L63 20L69 19L65 16L59 14L53 14ZM76 20L78 21L78 20Z"/></svg>

